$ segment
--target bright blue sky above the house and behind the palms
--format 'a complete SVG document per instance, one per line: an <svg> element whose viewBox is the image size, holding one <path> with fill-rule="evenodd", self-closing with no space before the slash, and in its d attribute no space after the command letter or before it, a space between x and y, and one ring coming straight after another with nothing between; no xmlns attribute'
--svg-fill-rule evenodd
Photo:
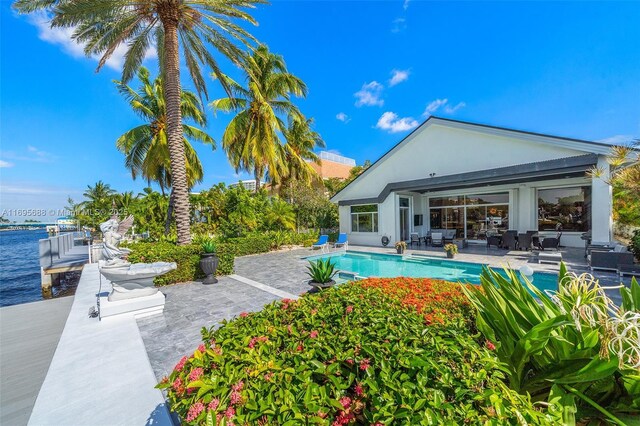
<svg viewBox="0 0 640 426"><path fill-rule="evenodd" d="M58 209L98 180L141 190L114 145L140 124L112 83L118 57L96 74L68 33L15 15L8 1L0 8L0 210ZM639 2L276 0L254 16L254 35L307 83L299 106L328 149L359 164L429 113L589 140L640 137ZM152 54L146 65L155 74ZM229 116L209 114L219 140ZM221 150L196 149L205 179L195 190L246 177Z"/></svg>

